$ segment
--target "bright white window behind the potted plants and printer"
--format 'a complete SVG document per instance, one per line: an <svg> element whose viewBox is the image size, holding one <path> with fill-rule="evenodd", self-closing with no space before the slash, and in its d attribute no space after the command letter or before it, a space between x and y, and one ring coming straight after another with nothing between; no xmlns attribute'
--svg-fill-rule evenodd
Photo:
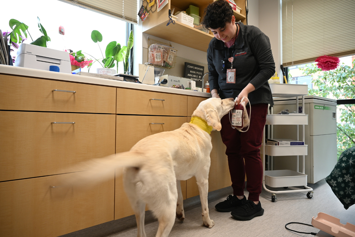
<svg viewBox="0 0 355 237"><path fill-rule="evenodd" d="M48 42L48 48L67 51L71 49L74 52L82 50L87 58L95 60L94 58L105 57L105 49L109 42L116 41L121 46L127 44L127 23L117 18L58 0L17 0L15 5L8 5L11 10L2 11L0 14L0 29L11 32L9 20L13 18L25 23L32 39L35 40L42 35L37 26L38 16L51 39ZM59 26L64 27L64 35L59 34ZM91 32L93 30L98 30L102 34L102 42L94 43L92 41ZM24 43L31 42L31 37L27 32L27 40ZM11 56L16 56L16 49L13 49L15 52L12 52ZM96 68L101 67L100 63L95 62L90 72L96 72ZM114 69L116 69L116 65ZM119 72L123 71L122 62L119 63L118 69ZM82 70L87 72L88 68Z"/></svg>

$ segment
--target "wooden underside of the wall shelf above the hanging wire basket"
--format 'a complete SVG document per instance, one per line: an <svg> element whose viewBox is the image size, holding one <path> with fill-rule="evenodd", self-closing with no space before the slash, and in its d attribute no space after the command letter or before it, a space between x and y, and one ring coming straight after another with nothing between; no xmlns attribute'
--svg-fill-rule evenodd
<svg viewBox="0 0 355 237"><path fill-rule="evenodd" d="M169 26L166 26L166 23L168 23L168 21L147 29L144 33L207 52L208 44L213 38L211 34L207 34L178 21L175 21L175 25L171 23Z"/></svg>

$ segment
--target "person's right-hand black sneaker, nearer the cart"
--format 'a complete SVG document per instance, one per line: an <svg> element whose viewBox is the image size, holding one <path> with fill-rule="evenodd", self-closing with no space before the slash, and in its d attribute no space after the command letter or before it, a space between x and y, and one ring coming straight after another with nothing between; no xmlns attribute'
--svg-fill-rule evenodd
<svg viewBox="0 0 355 237"><path fill-rule="evenodd" d="M261 208L261 203L256 205L251 200L242 201L242 205L231 212L231 215L238 220L249 221L255 216L262 216L264 209Z"/></svg>

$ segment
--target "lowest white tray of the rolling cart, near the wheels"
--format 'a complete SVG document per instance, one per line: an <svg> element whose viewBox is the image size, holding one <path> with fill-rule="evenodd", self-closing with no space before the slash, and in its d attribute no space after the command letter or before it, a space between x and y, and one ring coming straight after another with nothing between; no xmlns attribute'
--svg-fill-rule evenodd
<svg viewBox="0 0 355 237"><path fill-rule="evenodd" d="M306 186L307 174L288 169L265 171L265 184L273 188Z"/></svg>

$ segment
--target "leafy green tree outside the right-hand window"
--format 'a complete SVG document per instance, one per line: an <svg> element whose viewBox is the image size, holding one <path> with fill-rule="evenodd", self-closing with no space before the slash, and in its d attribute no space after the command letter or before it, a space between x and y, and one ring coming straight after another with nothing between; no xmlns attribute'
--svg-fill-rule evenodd
<svg viewBox="0 0 355 237"><path fill-rule="evenodd" d="M315 64L307 64L303 68L304 75L312 75L315 88L309 89L310 95L317 95L334 99L355 98L355 60L352 66L344 63L337 69L322 71ZM341 123L337 123L338 157L346 149L355 146L355 105L344 104L338 106L342 113Z"/></svg>

